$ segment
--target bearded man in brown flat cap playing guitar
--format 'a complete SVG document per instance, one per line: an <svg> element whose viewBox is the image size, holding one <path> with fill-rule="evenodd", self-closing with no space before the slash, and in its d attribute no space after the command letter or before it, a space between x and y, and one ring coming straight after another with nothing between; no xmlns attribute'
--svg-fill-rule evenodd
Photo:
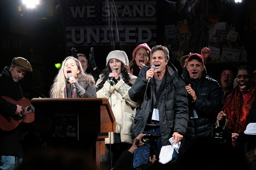
<svg viewBox="0 0 256 170"><path fill-rule="evenodd" d="M7 96L13 100L22 99L22 89L19 85L25 74L32 72L28 60L21 57L12 59L11 67L5 67L0 74L0 96ZM22 112L22 106L10 103L0 97L0 113L7 113L10 116L18 115ZM0 122L0 124L3 122ZM0 169L13 170L16 165L22 162L23 157L23 133L22 129L16 127L12 131L0 129Z"/></svg>

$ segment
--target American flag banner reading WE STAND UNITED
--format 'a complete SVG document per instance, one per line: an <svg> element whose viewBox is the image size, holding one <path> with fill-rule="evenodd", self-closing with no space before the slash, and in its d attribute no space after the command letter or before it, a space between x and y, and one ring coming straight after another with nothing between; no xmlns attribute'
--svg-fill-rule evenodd
<svg viewBox="0 0 256 170"><path fill-rule="evenodd" d="M156 1L66 0L67 48L156 45Z"/></svg>

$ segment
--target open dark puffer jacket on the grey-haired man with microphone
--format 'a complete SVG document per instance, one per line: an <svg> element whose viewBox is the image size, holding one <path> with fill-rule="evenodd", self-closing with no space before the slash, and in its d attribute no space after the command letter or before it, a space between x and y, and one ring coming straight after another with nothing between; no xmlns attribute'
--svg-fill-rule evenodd
<svg viewBox="0 0 256 170"><path fill-rule="evenodd" d="M174 75L171 74L170 68L170 66L166 66L165 85L162 88L158 103L162 146L170 145L169 138L172 137L174 132L184 135L188 121L187 91L184 81L178 76L178 70L173 65ZM143 133L152 107L152 81L149 82L145 94L147 87L146 72L148 69L145 66L140 69L141 73L128 91L131 100L140 102L132 125L132 136L134 138Z"/></svg>

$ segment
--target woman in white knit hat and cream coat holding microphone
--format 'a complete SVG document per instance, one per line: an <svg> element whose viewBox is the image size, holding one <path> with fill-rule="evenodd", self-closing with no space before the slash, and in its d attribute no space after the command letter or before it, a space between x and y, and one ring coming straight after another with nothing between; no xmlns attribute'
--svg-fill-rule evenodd
<svg viewBox="0 0 256 170"><path fill-rule="evenodd" d="M131 126L136 113L135 107L138 106L138 103L133 102L128 95L128 90L137 77L128 73L125 67L127 65L128 57L124 51L109 52L106 58L106 68L96 82L97 97L109 99L116 118L115 133L109 133L109 138L105 139L106 144L113 144L111 150L114 162L133 143ZM116 71L113 71L114 69ZM106 145L106 149L109 149L109 145Z"/></svg>

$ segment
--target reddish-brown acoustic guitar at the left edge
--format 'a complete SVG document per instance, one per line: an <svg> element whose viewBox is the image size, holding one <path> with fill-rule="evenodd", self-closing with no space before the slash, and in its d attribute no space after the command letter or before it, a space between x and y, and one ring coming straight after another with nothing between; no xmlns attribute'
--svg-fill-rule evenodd
<svg viewBox="0 0 256 170"><path fill-rule="evenodd" d="M31 105L31 101L27 98L22 98L18 101L13 100L7 96L1 96L3 99L10 103L22 106L24 114L10 116L7 112L1 112L0 114L0 128L3 131L12 131L15 129L21 122L31 123L34 121L34 108Z"/></svg>

